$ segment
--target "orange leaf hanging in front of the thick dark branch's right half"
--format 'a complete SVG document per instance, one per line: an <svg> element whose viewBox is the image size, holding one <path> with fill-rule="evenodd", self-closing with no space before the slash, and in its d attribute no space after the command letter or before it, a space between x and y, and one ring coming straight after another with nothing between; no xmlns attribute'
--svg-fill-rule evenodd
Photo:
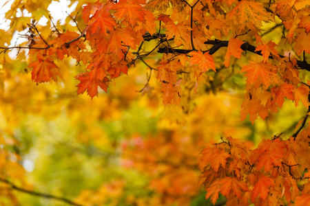
<svg viewBox="0 0 310 206"><path fill-rule="evenodd" d="M230 62L230 56L234 56L236 58L240 58L241 57L241 53L243 52L243 50L241 49L241 45L244 42L241 41L239 38L230 38L229 42L228 42L228 47L227 47L227 52L225 55L225 61L224 61L224 65L225 67L229 66L229 62Z"/></svg>

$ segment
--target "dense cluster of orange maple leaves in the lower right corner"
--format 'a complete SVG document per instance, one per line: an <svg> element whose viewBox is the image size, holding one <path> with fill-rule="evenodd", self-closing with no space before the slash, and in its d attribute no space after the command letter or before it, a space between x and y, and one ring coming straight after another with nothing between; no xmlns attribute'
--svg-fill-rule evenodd
<svg viewBox="0 0 310 206"><path fill-rule="evenodd" d="M200 160L206 198L215 204L220 192L227 205L307 204L309 127L296 138L274 136L256 149L231 137L209 144Z"/></svg>

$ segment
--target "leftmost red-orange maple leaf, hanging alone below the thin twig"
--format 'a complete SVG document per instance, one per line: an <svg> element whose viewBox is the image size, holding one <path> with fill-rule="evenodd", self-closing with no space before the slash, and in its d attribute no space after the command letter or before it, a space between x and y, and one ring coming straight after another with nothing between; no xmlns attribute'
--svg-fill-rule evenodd
<svg viewBox="0 0 310 206"><path fill-rule="evenodd" d="M57 82L57 76L62 78L61 73L59 73L59 68L50 58L45 60L38 59L28 65L28 67L33 68L31 72L32 81L37 83L50 82L51 78Z"/></svg>

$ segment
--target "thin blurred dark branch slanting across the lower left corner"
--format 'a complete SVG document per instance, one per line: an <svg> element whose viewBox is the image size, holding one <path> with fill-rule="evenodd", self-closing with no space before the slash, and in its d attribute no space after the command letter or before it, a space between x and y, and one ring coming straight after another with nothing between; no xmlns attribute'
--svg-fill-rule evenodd
<svg viewBox="0 0 310 206"><path fill-rule="evenodd" d="M74 203L74 202L72 202L72 201L70 201L70 200L68 200L67 198L64 198L64 197L54 196L52 194L44 194L44 193L41 193L41 192L34 192L34 191L30 191L30 190L25 190L25 189L23 189L21 187L17 187L17 185L14 185L14 183L12 183L11 181L8 181L7 179L0 178L0 181L10 185L10 189L11 190L17 190L19 192L24 192L24 193L27 193L27 194L30 194L30 195L33 195L33 196L40 196L40 197L43 197L43 198L54 199L54 200L57 200L57 201L61 201L63 203L68 203L70 205L83 206L83 205L80 205L78 203Z"/></svg>

